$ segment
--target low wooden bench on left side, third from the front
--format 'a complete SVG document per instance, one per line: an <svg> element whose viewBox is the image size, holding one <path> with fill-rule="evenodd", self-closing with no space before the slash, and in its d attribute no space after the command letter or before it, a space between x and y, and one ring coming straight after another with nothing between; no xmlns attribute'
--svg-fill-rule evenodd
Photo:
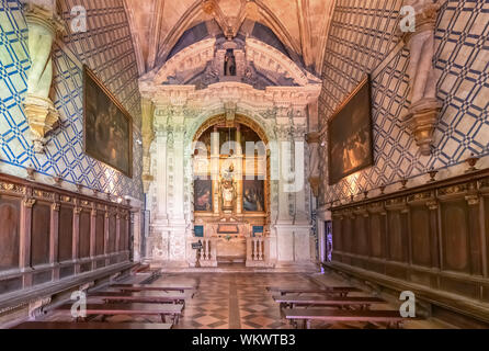
<svg viewBox="0 0 489 351"><path fill-rule="evenodd" d="M146 304L182 304L185 298L192 297L186 294L167 294L164 292L94 292L89 297L96 297L105 302L120 303L146 303Z"/></svg>

